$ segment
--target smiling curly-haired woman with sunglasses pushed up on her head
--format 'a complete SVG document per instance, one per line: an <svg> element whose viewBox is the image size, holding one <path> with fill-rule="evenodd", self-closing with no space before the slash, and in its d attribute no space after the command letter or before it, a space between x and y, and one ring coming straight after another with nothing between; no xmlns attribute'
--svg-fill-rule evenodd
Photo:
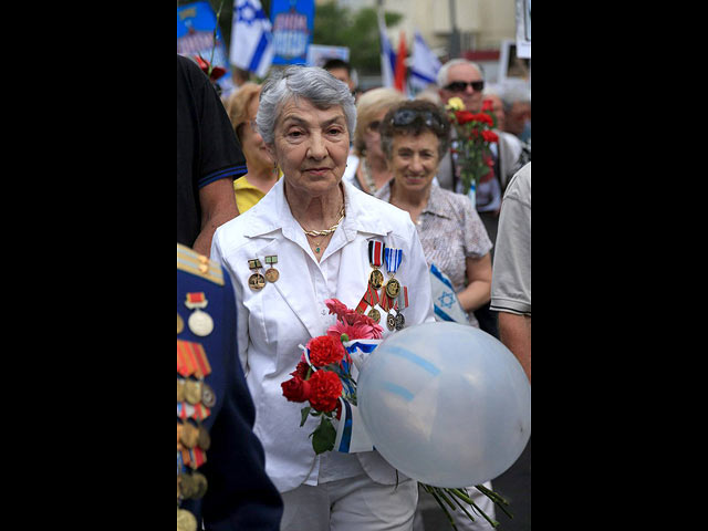
<svg viewBox="0 0 708 531"><path fill-rule="evenodd" d="M449 122L440 107L417 100L392 108L379 131L393 179L376 197L410 215L428 267L434 263L449 278L467 323L479 327L473 311L491 299L492 243L467 196L445 190L434 181L449 146ZM437 311L436 319L440 319ZM491 489L489 481L485 486ZM468 492L489 517L494 517L489 498L473 488ZM460 531L491 529L482 518L471 522L461 511L452 517Z"/></svg>

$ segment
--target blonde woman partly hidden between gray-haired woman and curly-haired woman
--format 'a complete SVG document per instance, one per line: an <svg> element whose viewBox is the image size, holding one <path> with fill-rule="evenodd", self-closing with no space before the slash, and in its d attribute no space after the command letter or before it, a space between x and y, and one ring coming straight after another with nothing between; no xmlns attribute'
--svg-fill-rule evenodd
<svg viewBox="0 0 708 531"><path fill-rule="evenodd" d="M360 190L373 195L391 180L391 169L381 150L378 126L388 110L405 100L400 92L387 87L372 88L360 96L354 148L344 173L344 179Z"/></svg>

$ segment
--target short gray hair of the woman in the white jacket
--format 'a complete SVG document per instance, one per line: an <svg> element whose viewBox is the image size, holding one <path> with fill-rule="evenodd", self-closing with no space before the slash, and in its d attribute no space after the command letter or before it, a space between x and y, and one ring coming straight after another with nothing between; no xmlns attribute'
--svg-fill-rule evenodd
<svg viewBox="0 0 708 531"><path fill-rule="evenodd" d="M320 66L288 66L271 73L261 90L256 125L266 144L272 144L275 122L290 100L309 100L317 108L340 105L346 117L350 139L356 128L356 104L346 83Z"/></svg>

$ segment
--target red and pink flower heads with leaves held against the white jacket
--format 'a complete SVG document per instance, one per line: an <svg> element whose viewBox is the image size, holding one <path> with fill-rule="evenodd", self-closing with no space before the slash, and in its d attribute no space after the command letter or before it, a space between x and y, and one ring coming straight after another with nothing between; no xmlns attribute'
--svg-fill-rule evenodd
<svg viewBox="0 0 708 531"><path fill-rule="evenodd" d="M371 317L350 310L336 299L324 301L330 314L336 313L336 324L326 335L311 339L302 347L303 353L292 378L281 384L283 396L290 402L308 403L301 410L300 426L308 416L320 417L317 428L311 434L315 454L332 450L336 430L332 418L340 418L340 398L356 405L356 382L352 377L352 357L343 343L352 340L378 340L383 329Z"/></svg>

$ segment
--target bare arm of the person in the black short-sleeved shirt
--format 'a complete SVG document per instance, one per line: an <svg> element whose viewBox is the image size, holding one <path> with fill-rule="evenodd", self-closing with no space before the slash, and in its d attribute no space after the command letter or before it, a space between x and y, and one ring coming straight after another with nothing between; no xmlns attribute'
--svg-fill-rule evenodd
<svg viewBox="0 0 708 531"><path fill-rule="evenodd" d="M201 188L199 204L201 206L201 231L192 248L200 254L208 257L211 252L211 239L217 228L239 215L233 192L233 180L231 178L219 179Z"/></svg>

